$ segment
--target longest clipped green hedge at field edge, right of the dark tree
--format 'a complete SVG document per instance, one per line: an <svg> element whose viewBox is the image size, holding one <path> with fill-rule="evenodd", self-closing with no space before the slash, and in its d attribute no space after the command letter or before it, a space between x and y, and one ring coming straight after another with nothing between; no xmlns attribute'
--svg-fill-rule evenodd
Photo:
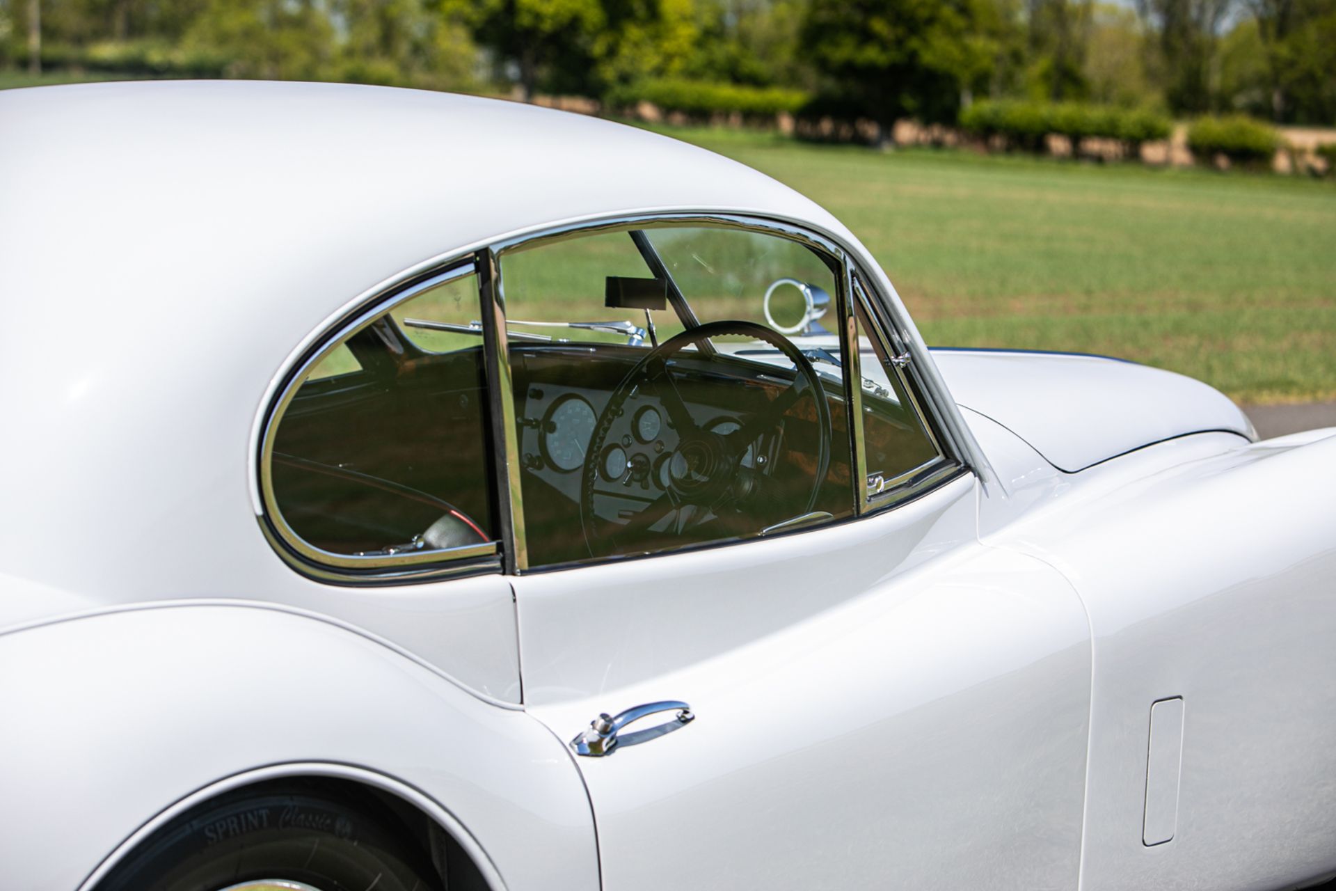
<svg viewBox="0 0 1336 891"><path fill-rule="evenodd" d="M1026 151L1042 151L1049 134L1066 136L1073 148L1086 138L1113 139L1128 156L1136 156L1141 143L1168 139L1173 130L1168 118L1144 108L986 99L963 108L959 124L974 136L998 136Z"/></svg>

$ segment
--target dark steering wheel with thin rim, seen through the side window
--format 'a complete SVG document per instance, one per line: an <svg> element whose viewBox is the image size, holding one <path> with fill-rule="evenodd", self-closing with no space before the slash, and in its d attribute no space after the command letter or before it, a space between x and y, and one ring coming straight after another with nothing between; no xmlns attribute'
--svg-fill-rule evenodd
<svg viewBox="0 0 1336 891"><path fill-rule="evenodd" d="M723 334L764 341L783 353L798 369L798 375L791 386L759 411L740 418L739 429L731 433L715 433L699 426L691 417L691 411L687 410L687 403L668 370L668 359L684 347ZM668 458L668 485L664 493L623 526L616 522L600 521L595 514L595 481L599 477L601 464L599 456L603 454L608 433L617 418L625 414L623 406L627 399L643 387L653 390L659 397L668 414L668 421L677 433L677 449ZM615 552L620 552L623 542L644 534L669 514L676 513L681 517L685 508L708 510L715 516L724 516L731 509L736 513L740 502L755 488L755 476L740 473L748 446L756 442L762 434L782 423L784 414L794 407L804 389L811 391L812 402L816 403L818 426L816 473L812 474L812 488L807 496L806 509L807 513L811 513L816 508L816 500L830 468L831 417L820 377L802 350L782 334L776 334L763 325L740 319L707 322L649 350L608 397L608 403L603 407L603 413L595 423L593 435L589 438L589 449L585 452L588 457L580 481L580 528L584 532L589 556L607 553L607 540L612 541ZM774 473L774 468L770 473ZM774 522L787 518L775 517ZM604 546L599 548L597 552L595 549L596 541L604 541Z"/></svg>

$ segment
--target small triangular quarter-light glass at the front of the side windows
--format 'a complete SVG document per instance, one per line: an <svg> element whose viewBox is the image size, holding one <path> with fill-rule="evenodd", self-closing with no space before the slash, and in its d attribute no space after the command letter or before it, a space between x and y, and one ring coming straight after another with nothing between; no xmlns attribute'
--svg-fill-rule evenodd
<svg viewBox="0 0 1336 891"><path fill-rule="evenodd" d="M859 366L863 377L863 454L867 494L888 501L894 489L941 461L904 375L891 361L884 338L872 327L867 295L855 285Z"/></svg>

